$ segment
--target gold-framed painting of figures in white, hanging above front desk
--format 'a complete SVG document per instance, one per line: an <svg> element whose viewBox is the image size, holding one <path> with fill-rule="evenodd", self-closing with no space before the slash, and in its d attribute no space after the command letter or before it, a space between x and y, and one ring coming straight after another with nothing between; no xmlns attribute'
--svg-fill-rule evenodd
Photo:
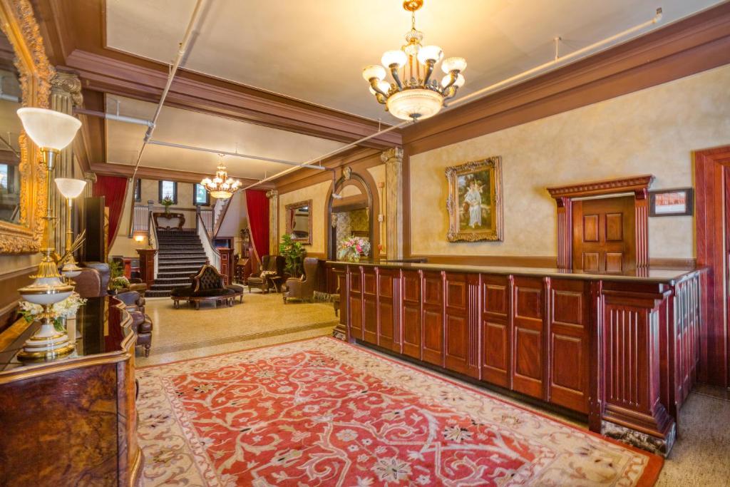
<svg viewBox="0 0 730 487"><path fill-rule="evenodd" d="M502 242L502 158L446 168L449 242Z"/></svg>

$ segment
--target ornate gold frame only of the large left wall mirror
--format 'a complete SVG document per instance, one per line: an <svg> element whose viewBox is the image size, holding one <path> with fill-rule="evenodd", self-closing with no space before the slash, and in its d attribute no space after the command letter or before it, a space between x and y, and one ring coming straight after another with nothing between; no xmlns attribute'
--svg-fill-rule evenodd
<svg viewBox="0 0 730 487"><path fill-rule="evenodd" d="M50 79L55 70L43 47L38 23L28 0L0 0L0 28L15 50L23 107L48 107ZM21 133L20 222L0 221L0 253L40 250L45 214L45 169L40 151Z"/></svg>

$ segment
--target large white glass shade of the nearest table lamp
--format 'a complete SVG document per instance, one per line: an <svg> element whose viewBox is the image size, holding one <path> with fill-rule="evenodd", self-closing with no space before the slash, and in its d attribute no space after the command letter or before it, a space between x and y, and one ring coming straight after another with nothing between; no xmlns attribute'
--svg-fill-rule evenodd
<svg viewBox="0 0 730 487"><path fill-rule="evenodd" d="M20 108L18 117L38 147L53 150L69 145L81 126L78 118L45 108Z"/></svg>

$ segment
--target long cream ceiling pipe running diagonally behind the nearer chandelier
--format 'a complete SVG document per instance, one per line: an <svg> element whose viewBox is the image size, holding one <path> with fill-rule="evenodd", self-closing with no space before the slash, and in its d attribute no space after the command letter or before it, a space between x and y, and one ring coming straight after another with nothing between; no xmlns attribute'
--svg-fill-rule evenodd
<svg viewBox="0 0 730 487"><path fill-rule="evenodd" d="M548 69L548 68L553 67L553 66L557 66L558 64L564 64L567 61L570 61L571 59L577 58L578 56L583 55L583 54L585 54L585 53L587 53L589 51L599 49L599 47L603 47L604 45L608 44L609 42L613 42L613 41L615 41L617 39L621 39L623 37L626 37L629 34L633 34L636 31L640 31L642 28L646 28L648 26L652 26L653 24L658 23L660 20L661 20L661 8L658 8L658 9L656 9L656 15L654 15L654 17L651 20L648 20L648 21L646 21L644 23L640 23L637 26L634 26L634 27L631 27L631 28L627 28L625 31L621 31L618 34L612 35L611 37L607 37L605 39L602 39L599 42L594 42L593 44L591 44L589 46L582 47L579 50L575 50L572 53L569 53L569 54L566 54L566 55L564 55L562 57L553 59L552 61L548 61L545 64L541 64L541 65L536 66L536 67L534 67L532 69L528 69L527 71L521 72L520 74L515 74L515 76L509 77L506 80L502 80L499 83L494 83L493 85L489 85L489 86L487 86L485 88L482 88L480 90L477 90L477 91L475 91L473 93L469 93L466 96L461 96L461 98L458 98L458 99L456 99L454 101L451 101L450 104L448 105L448 107L446 107L445 110L442 110L441 113L446 112L447 110L450 110L451 108L457 106L458 104L464 103L464 101L482 98L483 96L487 96L488 94L496 93L496 91L504 90L504 89L508 88L510 85L512 85L513 83L516 83L518 81L525 80L526 77L529 77L531 74L537 74L537 73L539 73L541 71L544 71L545 69ZM324 158L328 158L330 156L334 156L335 154L340 153L343 150L347 150L350 147L354 147L355 145L358 145L359 143L364 142L367 139L372 139L372 137L377 137L378 135L383 134L383 133L385 133L387 131L391 131L393 129L398 129L401 126L404 126L404 125L406 125L408 123L413 123L413 122L411 122L410 120L406 120L404 122L398 123L397 125L391 126L388 129L385 129L385 130L379 131L379 132L377 132L375 134L372 134L369 137L364 137L363 139L356 140L355 142L352 142L351 144L344 145L344 146L340 147L339 149L332 151L331 153L327 153L327 154L324 154L323 156L319 156L317 158L313 158L310 161L306 161L303 164L310 164L312 162L321 161ZM303 165L300 166L300 167L303 167ZM259 185L261 183L267 183L268 181L274 180L277 177L281 177L283 175L287 175L290 172L294 172L297 169L300 169L300 167L292 167L290 169L285 169L282 172L279 172L279 173L277 173L277 174L275 174L273 176L269 176L269 177L264 178L261 181L258 181L258 183L253 183L251 185L248 185L245 188L242 188L242 191L247 190L247 189L250 189L250 188L253 188L254 186Z"/></svg>

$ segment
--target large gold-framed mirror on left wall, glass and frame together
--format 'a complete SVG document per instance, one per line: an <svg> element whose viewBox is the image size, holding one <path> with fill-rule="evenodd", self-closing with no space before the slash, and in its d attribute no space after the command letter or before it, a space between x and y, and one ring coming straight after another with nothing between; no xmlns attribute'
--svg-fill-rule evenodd
<svg viewBox="0 0 730 487"><path fill-rule="evenodd" d="M50 78L38 25L28 0L0 0L0 253L40 249L45 169L15 111L48 107Z"/></svg>

